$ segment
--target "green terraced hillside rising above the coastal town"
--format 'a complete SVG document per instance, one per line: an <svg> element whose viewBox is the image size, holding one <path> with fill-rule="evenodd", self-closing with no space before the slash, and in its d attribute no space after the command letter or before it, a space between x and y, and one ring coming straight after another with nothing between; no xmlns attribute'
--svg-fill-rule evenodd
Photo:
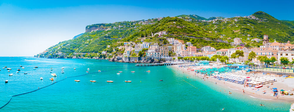
<svg viewBox="0 0 294 112"><path fill-rule="evenodd" d="M262 39L267 34L270 41L294 41L294 22L277 20L264 12L256 12L245 17L211 17L209 19L198 15L179 15L178 17L154 18L139 21L123 21L115 23L101 23L86 26L86 32L75 39L60 42L37 57L62 58L58 52L69 58L78 53L93 53L113 51L123 42L141 43L141 37L146 37L144 42L162 43L166 37L174 37L191 42L200 48L213 46L216 49L232 48L230 45L234 38L241 38L247 47L260 46L262 42L253 42L251 39ZM154 33L166 31L163 36ZM107 45L110 45L107 48Z"/></svg>

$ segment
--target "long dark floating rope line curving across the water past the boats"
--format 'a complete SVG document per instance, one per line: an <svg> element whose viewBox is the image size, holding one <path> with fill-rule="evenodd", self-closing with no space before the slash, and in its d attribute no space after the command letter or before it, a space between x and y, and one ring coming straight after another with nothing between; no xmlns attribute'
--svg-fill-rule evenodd
<svg viewBox="0 0 294 112"><path fill-rule="evenodd" d="M139 68L139 67L153 67L153 66L138 66L138 67L128 67L128 68ZM119 69L127 69L127 68L116 68L116 69L112 69L112 70L119 70ZM108 71L112 71L112 70L106 70L106 71L100 71L100 72L108 72ZM93 72L93 73L100 73L100 72ZM84 75L93 74L93 73L87 73L87 74L84 74ZM72 77L80 77L80 76L83 76L83 75L72 76ZM67 78L71 78L71 77L66 77L66 78L64 78L63 80L65 80L65 79L67 79ZM57 81L57 82L60 82L60 81L63 81L63 80L59 80L59 81ZM51 85L53 85L53 84L55 84L55 83L57 83L57 82L53 82L52 84L50 84L50 85L48 85L48 86L51 86ZM48 87L48 86L45 86L45 87ZM45 88L45 87L41 87L41 88L39 88L39 89L42 89L42 88ZM37 91L37 90L39 90L39 89L36 89L36 90L34 90L34 91L31 91L31 92L35 92L35 91ZM23 93L23 94L28 94L28 93L31 93L31 92L26 92L26 93ZM11 96L10 100L9 100L4 106L6 106L6 105L11 101L12 97L16 97L16 96L23 95L23 94L17 94L17 95L13 95L13 96ZM4 106L2 106L1 108L3 108ZM1 108L0 108L0 109L1 109Z"/></svg>

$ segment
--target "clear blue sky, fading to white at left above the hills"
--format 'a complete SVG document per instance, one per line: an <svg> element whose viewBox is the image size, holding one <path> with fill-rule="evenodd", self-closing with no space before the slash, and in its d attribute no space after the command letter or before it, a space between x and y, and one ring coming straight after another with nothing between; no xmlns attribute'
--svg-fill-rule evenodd
<svg viewBox="0 0 294 112"><path fill-rule="evenodd" d="M248 16L263 11L279 20L294 20L294 1L18 1L0 0L0 57L34 56L85 32L97 23L196 14Z"/></svg>

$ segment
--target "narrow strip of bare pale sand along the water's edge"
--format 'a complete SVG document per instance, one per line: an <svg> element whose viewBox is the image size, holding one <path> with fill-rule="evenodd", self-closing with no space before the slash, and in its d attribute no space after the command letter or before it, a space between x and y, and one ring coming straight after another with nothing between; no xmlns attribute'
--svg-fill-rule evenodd
<svg viewBox="0 0 294 112"><path fill-rule="evenodd" d="M178 65L172 65L171 66L173 69L175 70L181 70L183 71L184 73L187 73L189 75L192 75L192 76L195 76L195 77L199 77L199 78L203 78L203 75L201 74L195 74L195 72L189 72L188 70L186 70L185 68L181 68L181 67L178 67ZM187 75L186 74L186 75ZM198 75L198 76L197 76ZM205 77L206 78L206 77ZM207 80L207 79L206 79ZM243 94L246 94L248 95L249 97L253 97L253 98L256 98L256 99L260 99L260 100L266 100L266 101L279 101L279 102L288 102L288 103L293 103L294 102L294 98L290 98L290 97L284 97L284 96L280 96L277 98L277 97L273 97L273 96L268 96L268 94L270 93L266 93L266 95L262 94L262 93L257 93L257 92L253 92L254 90L252 89L256 89L256 88L250 88L250 87L243 87L243 85L240 85L240 84L236 84L236 83L233 83L233 82L228 82L228 81L223 81L223 80L217 80L215 78L208 78L208 81L211 82L211 84L214 84L215 82L217 82L217 85L220 85L222 87L225 87L225 88L228 88L228 89L234 89L234 90L237 90L240 92L240 94L243 93L243 90L245 90L245 93ZM223 83L225 82L225 83ZM275 83L278 83L278 82L275 82ZM271 85L272 86L272 85ZM286 86L286 85L285 85ZM291 88L291 87L288 87L288 88ZM268 88L267 88L268 89ZM216 90L218 91L218 90ZM259 91L259 92L262 92L262 91Z"/></svg>

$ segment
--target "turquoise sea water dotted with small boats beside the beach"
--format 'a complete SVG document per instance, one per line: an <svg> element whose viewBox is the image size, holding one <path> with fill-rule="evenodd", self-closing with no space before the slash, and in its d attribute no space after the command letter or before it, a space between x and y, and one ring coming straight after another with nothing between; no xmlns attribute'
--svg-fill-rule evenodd
<svg viewBox="0 0 294 112"><path fill-rule="evenodd" d="M134 65L94 59L0 57L0 107L13 95L36 90L65 77L86 74L87 68L90 69L89 73L93 73L67 78L38 91L13 97L0 111L217 112L225 108L222 112L288 112L290 109L291 103L252 98L193 76L187 79L186 74L171 66L128 68ZM11 68L11 72L2 69L4 66ZM25 69L16 73L16 69L21 68L19 66ZM39 68L34 70L35 66ZM54 81L49 80L52 78L50 68L57 75ZM64 68L64 74L61 74L61 68ZM113 70L115 68L127 69ZM98 70L112 71L94 73ZM145 72L147 70L151 72ZM117 75L118 71L123 73ZM8 76L11 73L13 76ZM44 80L40 80L40 77ZM9 82L4 83L5 80ZM107 83L106 80L114 82ZM219 92L220 89L226 92ZM233 94L229 95L228 91Z"/></svg>

